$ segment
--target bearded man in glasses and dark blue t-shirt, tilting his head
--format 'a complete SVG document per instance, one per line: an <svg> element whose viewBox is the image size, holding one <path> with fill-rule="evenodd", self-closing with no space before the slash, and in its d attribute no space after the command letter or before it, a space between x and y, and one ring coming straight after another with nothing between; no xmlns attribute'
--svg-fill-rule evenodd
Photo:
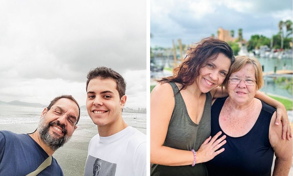
<svg viewBox="0 0 293 176"><path fill-rule="evenodd" d="M16 134L0 131L0 175L28 175L48 158L52 160L38 176L63 175L51 156L66 143L79 121L80 109L71 95L54 98L42 111L35 132Z"/></svg>

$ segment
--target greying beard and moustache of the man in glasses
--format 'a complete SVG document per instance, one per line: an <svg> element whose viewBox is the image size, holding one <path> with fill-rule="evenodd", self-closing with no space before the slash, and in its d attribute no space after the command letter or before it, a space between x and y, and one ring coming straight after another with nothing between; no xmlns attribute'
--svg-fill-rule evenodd
<svg viewBox="0 0 293 176"><path fill-rule="evenodd" d="M52 125L62 128L62 131L64 131L64 136L56 138L55 136L51 135L49 133L49 129ZM66 128L64 127L64 125L61 125L59 121L46 124L45 116L41 117L39 121L38 132L40 133L40 138L42 139L42 141L52 150L57 150L59 147L62 147L71 138L71 136L67 136Z"/></svg>

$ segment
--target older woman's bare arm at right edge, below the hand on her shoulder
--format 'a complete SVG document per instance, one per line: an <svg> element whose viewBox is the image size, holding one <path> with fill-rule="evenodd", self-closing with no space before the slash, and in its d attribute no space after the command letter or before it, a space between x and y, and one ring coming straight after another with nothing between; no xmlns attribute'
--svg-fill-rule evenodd
<svg viewBox="0 0 293 176"><path fill-rule="evenodd" d="M269 139L275 151L275 167L273 175L288 175L292 163L292 140L282 140L282 125L276 126L276 112L270 122Z"/></svg>

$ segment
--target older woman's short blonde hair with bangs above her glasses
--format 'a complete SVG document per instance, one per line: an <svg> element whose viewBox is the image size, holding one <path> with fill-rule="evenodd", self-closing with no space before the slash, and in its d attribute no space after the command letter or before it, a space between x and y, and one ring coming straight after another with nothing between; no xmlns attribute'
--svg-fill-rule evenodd
<svg viewBox="0 0 293 176"><path fill-rule="evenodd" d="M263 69L260 65L260 62L255 58L250 58L248 56L236 56L235 62L231 65L229 72L227 74L226 79L229 79L231 74L238 72L241 68L243 68L246 64L251 64L254 67L255 71L255 79L258 90L263 87ZM227 88L229 81L224 84L224 87Z"/></svg>

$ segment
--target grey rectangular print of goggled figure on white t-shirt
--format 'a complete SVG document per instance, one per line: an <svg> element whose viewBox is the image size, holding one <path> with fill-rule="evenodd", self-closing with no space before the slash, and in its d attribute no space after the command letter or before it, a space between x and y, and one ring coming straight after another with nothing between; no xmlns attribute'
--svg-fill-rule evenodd
<svg viewBox="0 0 293 176"><path fill-rule="evenodd" d="M116 166L116 163L110 163L108 161L101 160L100 158L88 155L86 166L84 168L84 176L115 176Z"/></svg>

